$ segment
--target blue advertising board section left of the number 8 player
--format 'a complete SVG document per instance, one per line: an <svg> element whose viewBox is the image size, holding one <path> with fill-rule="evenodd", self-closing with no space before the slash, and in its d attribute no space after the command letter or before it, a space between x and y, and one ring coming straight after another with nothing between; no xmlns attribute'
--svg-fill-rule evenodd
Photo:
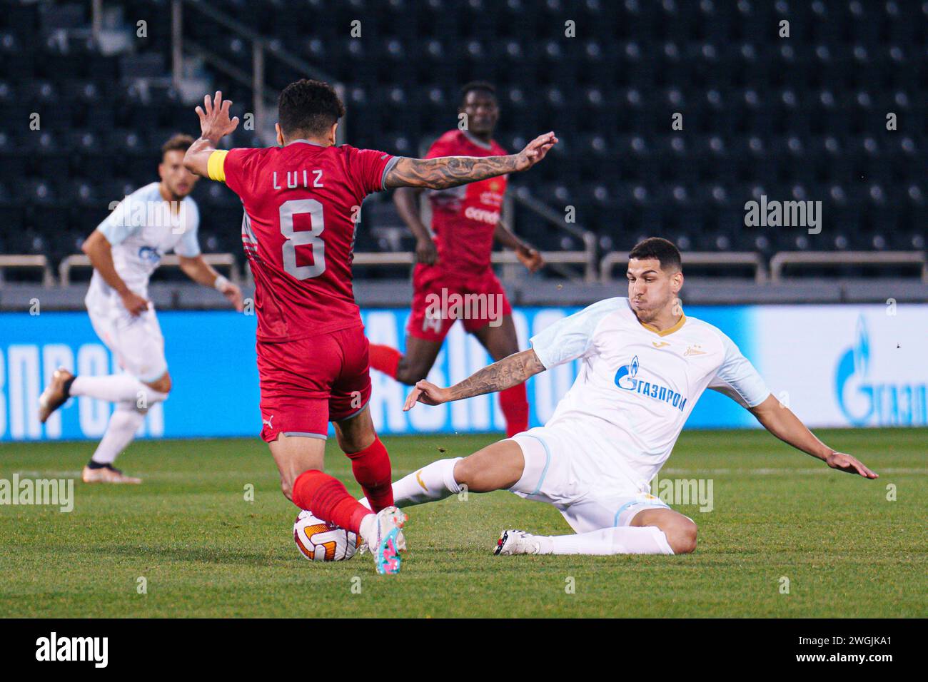
<svg viewBox="0 0 928 682"><path fill-rule="evenodd" d="M253 316L234 312L158 314L174 390L156 403L139 436L251 435L258 417ZM57 367L75 374L120 372L83 313L0 315L0 440L97 439L112 405L72 398L45 425L38 396Z"/></svg>

